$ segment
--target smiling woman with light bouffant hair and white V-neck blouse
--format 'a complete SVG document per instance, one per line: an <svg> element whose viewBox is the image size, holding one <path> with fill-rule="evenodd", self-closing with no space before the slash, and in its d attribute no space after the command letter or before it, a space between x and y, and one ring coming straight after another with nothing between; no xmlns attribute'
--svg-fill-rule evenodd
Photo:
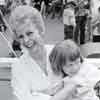
<svg viewBox="0 0 100 100"><path fill-rule="evenodd" d="M12 11L9 23L13 39L21 44L23 55L12 65L12 88L18 100L48 100L49 95L37 94L49 86L46 51L43 43L44 23L32 7L19 6Z"/></svg>

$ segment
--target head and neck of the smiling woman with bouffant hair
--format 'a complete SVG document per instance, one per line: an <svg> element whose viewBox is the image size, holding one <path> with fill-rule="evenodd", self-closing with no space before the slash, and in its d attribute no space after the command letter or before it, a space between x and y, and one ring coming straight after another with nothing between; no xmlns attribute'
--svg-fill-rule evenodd
<svg viewBox="0 0 100 100"><path fill-rule="evenodd" d="M40 13L34 8L19 6L12 12L9 22L15 33L13 39L19 41L38 63L43 63L45 29Z"/></svg>

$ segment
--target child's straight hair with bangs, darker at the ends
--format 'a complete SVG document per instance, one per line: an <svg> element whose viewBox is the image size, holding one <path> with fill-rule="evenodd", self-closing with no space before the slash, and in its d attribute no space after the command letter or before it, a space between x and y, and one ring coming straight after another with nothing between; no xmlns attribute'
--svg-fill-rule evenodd
<svg viewBox="0 0 100 100"><path fill-rule="evenodd" d="M50 64L55 74L63 73L63 66L68 61L81 58L80 49L74 41L67 39L58 43L49 55ZM64 73L63 73L64 74Z"/></svg>

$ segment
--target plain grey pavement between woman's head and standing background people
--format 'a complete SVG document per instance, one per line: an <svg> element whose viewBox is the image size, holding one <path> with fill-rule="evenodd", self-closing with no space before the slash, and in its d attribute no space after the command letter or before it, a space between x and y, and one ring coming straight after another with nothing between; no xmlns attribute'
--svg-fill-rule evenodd
<svg viewBox="0 0 100 100"><path fill-rule="evenodd" d="M44 19L45 21L45 43L54 44L56 42L62 41L64 38L64 26L62 19Z"/></svg>

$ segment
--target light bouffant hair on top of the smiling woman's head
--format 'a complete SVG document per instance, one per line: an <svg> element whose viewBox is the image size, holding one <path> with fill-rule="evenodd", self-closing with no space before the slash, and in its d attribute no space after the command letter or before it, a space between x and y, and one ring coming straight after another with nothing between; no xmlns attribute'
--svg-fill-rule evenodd
<svg viewBox="0 0 100 100"><path fill-rule="evenodd" d="M35 8L27 5L18 6L12 11L9 18L9 24L13 32L16 33L18 28L21 25L24 25L27 19L37 27L40 35L44 34L44 22L40 12L38 12Z"/></svg>

